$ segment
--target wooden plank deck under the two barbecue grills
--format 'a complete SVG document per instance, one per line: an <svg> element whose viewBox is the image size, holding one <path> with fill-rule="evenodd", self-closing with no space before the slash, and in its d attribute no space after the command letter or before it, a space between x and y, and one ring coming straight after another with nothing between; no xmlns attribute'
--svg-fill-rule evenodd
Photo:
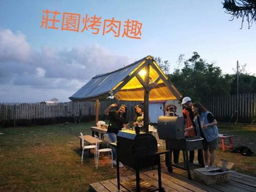
<svg viewBox="0 0 256 192"><path fill-rule="evenodd" d="M187 172L173 167L173 173L162 168L162 186L165 191L256 191L256 178L237 172L231 173L231 181L218 184L205 185L195 180L187 179ZM140 178L158 186L157 170L141 173ZM193 178L193 175L192 175ZM121 177L121 181L135 179L135 175ZM122 188L122 191L127 191ZM112 179L90 184L92 191L117 191L117 180Z"/></svg>

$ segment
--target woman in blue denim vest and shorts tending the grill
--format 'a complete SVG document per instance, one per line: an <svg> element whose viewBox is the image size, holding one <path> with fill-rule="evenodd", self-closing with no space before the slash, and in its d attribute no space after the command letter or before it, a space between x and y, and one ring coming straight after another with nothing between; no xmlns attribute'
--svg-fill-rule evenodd
<svg viewBox="0 0 256 192"><path fill-rule="evenodd" d="M195 114L194 123L196 127L191 126L185 131L196 129L203 140L205 167L214 164L215 150L218 148L218 127L215 117L199 102L192 105L192 111Z"/></svg>

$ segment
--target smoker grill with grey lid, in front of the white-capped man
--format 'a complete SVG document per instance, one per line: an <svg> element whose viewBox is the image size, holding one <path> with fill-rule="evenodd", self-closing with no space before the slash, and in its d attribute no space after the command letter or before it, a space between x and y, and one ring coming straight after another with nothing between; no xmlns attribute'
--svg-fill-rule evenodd
<svg viewBox="0 0 256 192"><path fill-rule="evenodd" d="M201 165L189 163L188 151L203 148L203 138L199 136L185 138L183 118L179 116L160 116L158 118L159 139L165 140L166 150L182 150L184 162L172 164L171 154L166 155L165 164L169 172L172 166L187 170L188 179L191 179L190 169L199 168ZM203 157L202 157L203 158Z"/></svg>

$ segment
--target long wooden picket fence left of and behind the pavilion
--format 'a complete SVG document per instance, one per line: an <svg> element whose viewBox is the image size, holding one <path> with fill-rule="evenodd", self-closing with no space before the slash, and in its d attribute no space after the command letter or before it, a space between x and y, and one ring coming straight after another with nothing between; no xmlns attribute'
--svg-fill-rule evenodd
<svg viewBox="0 0 256 192"><path fill-rule="evenodd" d="M117 100L108 99L99 103L99 120L108 119L103 111ZM127 106L127 119L135 116L136 101L120 101ZM117 108L113 110L118 110ZM0 103L0 127L46 125L65 122L95 120L95 101L59 103Z"/></svg>

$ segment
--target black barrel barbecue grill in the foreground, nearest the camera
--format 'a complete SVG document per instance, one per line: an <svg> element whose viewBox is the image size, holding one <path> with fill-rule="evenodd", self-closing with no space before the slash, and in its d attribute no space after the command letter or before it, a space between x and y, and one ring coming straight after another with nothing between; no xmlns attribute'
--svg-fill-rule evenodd
<svg viewBox="0 0 256 192"><path fill-rule="evenodd" d="M117 134L117 165L119 161L136 169L136 180L122 182L121 185L129 191L156 191L148 182L139 179L139 169L158 165L158 184L159 191L164 191L161 186L161 166L160 155L168 153L167 150L161 150L157 147L156 138L148 133L136 134L132 130L119 131ZM136 184L135 184L136 183ZM119 166L117 166L117 184L120 189ZM143 185L144 184L144 185ZM131 189L131 186L136 186Z"/></svg>

